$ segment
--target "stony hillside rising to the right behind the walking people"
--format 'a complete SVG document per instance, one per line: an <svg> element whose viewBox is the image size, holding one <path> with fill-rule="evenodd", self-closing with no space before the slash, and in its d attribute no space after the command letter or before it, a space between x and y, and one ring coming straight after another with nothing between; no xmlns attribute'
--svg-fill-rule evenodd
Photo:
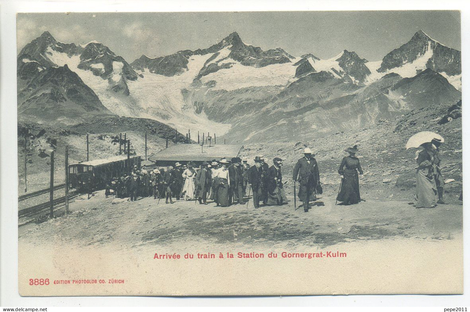
<svg viewBox="0 0 470 312"><path fill-rule="evenodd" d="M286 192L293 194L292 170L302 157L305 147L315 153L318 161L323 197L336 196L339 186L337 173L341 159L347 155L344 149L358 145L364 179L360 180L362 197L412 201L415 191L415 152L405 149L409 137L420 131L441 134L445 143L441 146L441 169L445 180L445 199L459 203L462 192L462 102L431 104L413 109L390 120L379 120L375 125L353 131L338 132L320 139L299 135L290 140L275 143L246 144L243 156L252 162L255 156L264 155L269 164L274 157L284 160L282 167ZM293 139L297 139L295 142Z"/></svg>

